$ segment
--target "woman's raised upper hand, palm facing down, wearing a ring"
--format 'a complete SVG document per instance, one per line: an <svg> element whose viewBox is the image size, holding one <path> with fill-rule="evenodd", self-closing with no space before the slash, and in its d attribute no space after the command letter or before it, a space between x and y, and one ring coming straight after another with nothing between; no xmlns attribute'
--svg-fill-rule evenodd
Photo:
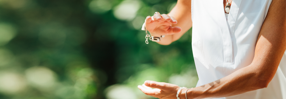
<svg viewBox="0 0 286 99"><path fill-rule="evenodd" d="M172 35L180 33L182 29L178 26L172 27L172 24L177 24L177 20L169 15L156 13L154 16L147 16L145 19L146 29L150 33L158 35Z"/></svg>

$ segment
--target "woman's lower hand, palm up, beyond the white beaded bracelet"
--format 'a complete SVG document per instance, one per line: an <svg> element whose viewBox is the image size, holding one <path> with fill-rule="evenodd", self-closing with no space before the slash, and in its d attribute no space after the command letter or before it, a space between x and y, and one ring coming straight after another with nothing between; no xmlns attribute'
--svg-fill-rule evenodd
<svg viewBox="0 0 286 99"><path fill-rule="evenodd" d="M145 81L144 84L138 85L138 88L146 95L160 99L177 99L176 93L179 86L164 82ZM155 88L155 89L152 89Z"/></svg>

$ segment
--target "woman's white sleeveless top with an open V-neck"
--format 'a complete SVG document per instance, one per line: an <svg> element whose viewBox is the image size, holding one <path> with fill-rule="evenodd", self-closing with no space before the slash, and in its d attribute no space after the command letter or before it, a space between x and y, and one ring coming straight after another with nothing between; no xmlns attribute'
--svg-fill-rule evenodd
<svg viewBox="0 0 286 99"><path fill-rule="evenodd" d="M223 0L192 0L192 51L198 86L251 64L272 0L233 0L226 19ZM267 88L217 99L286 99L286 52Z"/></svg>

